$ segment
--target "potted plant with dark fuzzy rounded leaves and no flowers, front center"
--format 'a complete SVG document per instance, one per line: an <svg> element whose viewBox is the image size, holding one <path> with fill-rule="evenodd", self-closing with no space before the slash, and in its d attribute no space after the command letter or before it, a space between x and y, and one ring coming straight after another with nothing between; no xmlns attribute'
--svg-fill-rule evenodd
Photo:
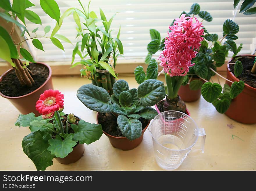
<svg viewBox="0 0 256 191"><path fill-rule="evenodd" d="M81 86L77 97L86 107L98 112L97 123L102 125L113 147L130 150L141 143L150 119L157 115L150 106L165 97L165 90L159 80L146 80L138 90L129 89L125 80L118 80L111 97L104 88L93 84Z"/></svg>

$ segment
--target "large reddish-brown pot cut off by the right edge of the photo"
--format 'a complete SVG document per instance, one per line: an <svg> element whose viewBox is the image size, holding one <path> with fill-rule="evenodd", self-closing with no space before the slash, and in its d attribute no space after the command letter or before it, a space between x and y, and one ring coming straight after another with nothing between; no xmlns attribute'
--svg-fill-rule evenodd
<svg viewBox="0 0 256 191"><path fill-rule="evenodd" d="M254 56L254 55L241 55L241 56ZM227 64L227 79L231 81L239 81L239 79L232 72L230 72L229 64ZM225 83L231 86L230 82L226 81ZM225 112L225 114L231 119L234 119L238 122L246 123L246 124L254 124L256 123L255 106L256 106L256 88L253 88L245 83L243 91L236 98L232 99L231 104L228 110Z"/></svg>

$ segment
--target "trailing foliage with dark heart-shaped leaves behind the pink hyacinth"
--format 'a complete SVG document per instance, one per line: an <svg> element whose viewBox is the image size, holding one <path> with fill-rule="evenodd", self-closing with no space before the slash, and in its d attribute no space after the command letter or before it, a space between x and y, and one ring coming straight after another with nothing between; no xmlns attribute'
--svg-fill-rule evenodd
<svg viewBox="0 0 256 191"><path fill-rule="evenodd" d="M186 17L190 17L190 15L193 14L192 18L196 18L195 15L198 15L203 19L202 22L204 20L207 22L212 21L212 17L207 11L200 11L200 5L198 3L194 3L191 6L191 10L189 13L183 11L181 16L184 14ZM174 22L175 19L170 26L173 26ZM230 105L231 99L235 98L243 90L243 81L240 81L239 83L231 82L233 83L231 88L234 94L230 94L230 97L227 96L224 100L224 92L221 93L222 89L224 90L224 88L222 88L221 85L218 83L209 82L209 80L211 76L214 76L216 74L224 78L216 72L217 67L221 67L225 63L225 59L227 58L229 51L232 51L234 53L234 57L241 50L242 44L237 47L236 43L234 42L234 40L238 39L235 34L238 33L239 26L232 20L227 19L223 24L223 37L221 38L219 38L217 34L209 33L205 27L203 27L203 29L204 39L202 39L202 41L200 42L201 46L197 50L198 53L196 57L191 57L191 63L195 63L195 65L190 67L187 75L183 78L182 85L189 84L191 90L198 90L201 88L201 93L204 99L212 103L219 113L225 113ZM169 33L171 33L170 27ZM157 67L154 67L157 65L157 63L151 57L152 54L156 53L159 49L164 50L166 48L166 38L164 38L160 43L160 33L157 30L150 29L150 36L152 38L152 41L147 46L149 53L145 60L145 63L149 63L147 67L146 77L142 66L137 67L134 71L135 78L138 83L143 82L145 78L157 78L158 69ZM226 41L222 44L224 39ZM192 81L193 77L197 77L198 79ZM200 78L207 83L203 83Z"/></svg>

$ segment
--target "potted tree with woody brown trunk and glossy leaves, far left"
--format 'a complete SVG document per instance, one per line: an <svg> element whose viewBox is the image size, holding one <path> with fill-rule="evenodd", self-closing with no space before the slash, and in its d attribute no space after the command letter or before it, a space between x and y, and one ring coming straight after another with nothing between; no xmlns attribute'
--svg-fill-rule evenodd
<svg viewBox="0 0 256 191"><path fill-rule="evenodd" d="M51 4L51 7L49 7L48 4ZM63 49L63 46L55 37L46 36L50 31L50 26L44 28L45 35L43 36L36 35L38 28L35 28L31 32L27 30L25 18L35 24L42 24L40 17L36 13L27 10L27 8L31 6L35 5L28 0L14 0L12 5L9 0L0 3L0 7L4 10L4 12L0 12L0 17L13 24L10 33L8 33L3 26L0 26L0 58L6 60L12 66L12 69L9 69L0 77L0 95L13 103L22 114L33 112L38 116L40 114L34 107L38 97L40 97L40 94L45 90L53 89L51 68L44 63L36 63L29 51L22 48L22 43L27 40L32 40L35 48L44 51L39 39L50 38L52 43L58 48ZM40 1L40 6L47 15L57 21L57 24L59 23L60 10L54 0ZM54 10L52 10L52 8L54 8ZM19 18L24 25L18 22L17 18ZM15 25L22 29L21 36L28 36L25 40L14 42L12 35L15 31ZM19 48L23 59L20 58L17 48Z"/></svg>

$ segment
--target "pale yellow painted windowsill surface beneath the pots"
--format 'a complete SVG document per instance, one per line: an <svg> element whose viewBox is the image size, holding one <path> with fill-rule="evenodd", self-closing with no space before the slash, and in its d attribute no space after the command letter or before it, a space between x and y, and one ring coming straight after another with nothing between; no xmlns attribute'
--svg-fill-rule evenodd
<svg viewBox="0 0 256 191"><path fill-rule="evenodd" d="M54 88L65 95L64 112L74 113L86 122L96 123L96 112L86 108L76 97L78 88L91 82L79 76L54 76L52 79ZM120 74L119 79L125 79L130 88L138 87L132 74ZM165 81L164 76L161 75L159 80ZM216 76L213 80L217 81ZM224 80L221 79L221 83ZM255 124L241 124L218 113L202 96L198 101L186 105L198 128L205 129L205 153L201 152L199 137L177 170L256 169ZM18 115L19 111L7 99L0 97L0 170L36 170L33 162L22 151L22 139L30 131L28 127L14 126ZM235 136L232 138L232 135ZM54 164L47 167L47 170L162 170L155 162L152 138L148 130L144 133L142 143L130 151L112 147L104 134L96 142L84 144L84 147L84 155L77 162L63 165L53 159Z"/></svg>

